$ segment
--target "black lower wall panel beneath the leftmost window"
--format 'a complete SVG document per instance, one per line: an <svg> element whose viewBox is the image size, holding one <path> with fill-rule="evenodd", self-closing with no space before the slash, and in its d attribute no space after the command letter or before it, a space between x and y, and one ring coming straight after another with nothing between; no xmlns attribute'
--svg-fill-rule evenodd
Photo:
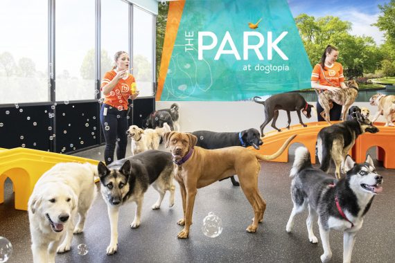
<svg viewBox="0 0 395 263"><path fill-rule="evenodd" d="M51 105L0 108L0 147L52 151L53 118Z"/></svg>

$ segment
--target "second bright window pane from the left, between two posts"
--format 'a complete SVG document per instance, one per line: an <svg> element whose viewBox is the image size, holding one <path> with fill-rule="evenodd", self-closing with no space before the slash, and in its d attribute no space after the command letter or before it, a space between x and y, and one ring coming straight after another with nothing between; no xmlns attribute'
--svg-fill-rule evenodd
<svg viewBox="0 0 395 263"><path fill-rule="evenodd" d="M55 100L95 98L95 0L57 0Z"/></svg>

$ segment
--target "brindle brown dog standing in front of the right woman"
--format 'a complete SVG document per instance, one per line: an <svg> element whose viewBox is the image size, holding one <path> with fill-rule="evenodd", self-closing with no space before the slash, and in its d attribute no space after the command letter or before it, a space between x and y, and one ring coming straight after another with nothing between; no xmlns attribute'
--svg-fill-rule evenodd
<svg viewBox="0 0 395 263"><path fill-rule="evenodd" d="M322 106L325 112L325 120L331 125L329 117L329 111L331 110L331 101L336 102L338 105L343 105L342 109L342 120L346 120L347 112L349 107L354 103L358 96L358 83L355 80L349 80L346 82L349 89L341 89L340 91L324 91L319 93L318 102Z"/></svg>

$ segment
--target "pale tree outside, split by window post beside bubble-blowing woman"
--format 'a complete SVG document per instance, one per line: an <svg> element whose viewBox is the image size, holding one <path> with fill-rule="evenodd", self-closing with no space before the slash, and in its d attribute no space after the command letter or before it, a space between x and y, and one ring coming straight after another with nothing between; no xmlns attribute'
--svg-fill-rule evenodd
<svg viewBox="0 0 395 263"><path fill-rule="evenodd" d="M102 50L100 53L100 76L112 69L112 60L107 51ZM81 77L85 80L94 80L95 78L95 49L91 48L82 60L80 68Z"/></svg>

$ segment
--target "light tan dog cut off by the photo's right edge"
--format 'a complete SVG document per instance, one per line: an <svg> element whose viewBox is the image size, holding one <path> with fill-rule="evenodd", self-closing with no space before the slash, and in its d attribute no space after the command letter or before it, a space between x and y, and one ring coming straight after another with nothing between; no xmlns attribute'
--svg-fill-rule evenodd
<svg viewBox="0 0 395 263"><path fill-rule="evenodd" d="M385 118L385 126L395 126L395 95L374 94L369 99L370 105L378 106L376 115L371 120L374 123L380 115Z"/></svg>

